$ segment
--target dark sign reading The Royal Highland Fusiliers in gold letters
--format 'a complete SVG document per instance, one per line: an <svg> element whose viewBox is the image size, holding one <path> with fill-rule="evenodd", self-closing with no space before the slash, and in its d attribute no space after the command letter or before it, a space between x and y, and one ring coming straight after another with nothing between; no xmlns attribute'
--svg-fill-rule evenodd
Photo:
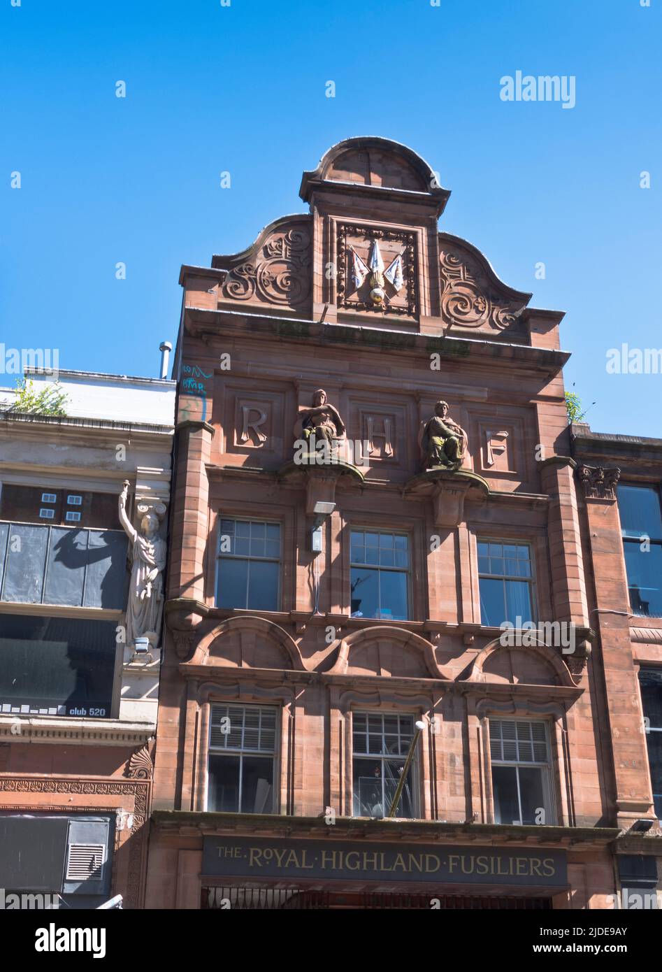
<svg viewBox="0 0 662 972"><path fill-rule="evenodd" d="M565 886L565 851L205 837L205 877Z"/></svg>

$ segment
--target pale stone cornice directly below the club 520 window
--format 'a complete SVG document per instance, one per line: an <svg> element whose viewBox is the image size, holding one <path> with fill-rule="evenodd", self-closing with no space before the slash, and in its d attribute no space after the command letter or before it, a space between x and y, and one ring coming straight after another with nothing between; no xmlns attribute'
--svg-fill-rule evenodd
<svg viewBox="0 0 662 972"><path fill-rule="evenodd" d="M0 715L3 743L52 743L80 746L137 746L157 731L153 722L77 718L68 715Z"/></svg>

